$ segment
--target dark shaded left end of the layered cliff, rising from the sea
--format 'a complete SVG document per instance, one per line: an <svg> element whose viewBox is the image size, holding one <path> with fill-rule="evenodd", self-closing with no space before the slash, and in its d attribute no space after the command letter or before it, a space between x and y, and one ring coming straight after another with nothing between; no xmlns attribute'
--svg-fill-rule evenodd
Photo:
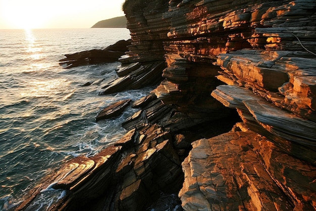
<svg viewBox="0 0 316 211"><path fill-rule="evenodd" d="M167 0L126 1L127 28L131 32L129 51L119 60L118 76L103 87L100 95L152 86L163 80L166 67L163 41L170 23L162 17L168 11Z"/></svg>

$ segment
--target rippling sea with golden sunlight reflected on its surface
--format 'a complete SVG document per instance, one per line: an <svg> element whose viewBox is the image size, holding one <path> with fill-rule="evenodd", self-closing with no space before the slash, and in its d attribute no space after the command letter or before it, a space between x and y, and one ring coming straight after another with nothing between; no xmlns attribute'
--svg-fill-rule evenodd
<svg viewBox="0 0 316 211"><path fill-rule="evenodd" d="M58 61L129 38L126 28L0 30L0 210L19 203L67 160L92 156L126 133L121 123L135 109L98 122L95 116L151 88L99 96L102 85L117 77L119 62L63 69ZM82 86L86 82L93 83ZM37 210L46 210L51 197L35 201Z"/></svg>

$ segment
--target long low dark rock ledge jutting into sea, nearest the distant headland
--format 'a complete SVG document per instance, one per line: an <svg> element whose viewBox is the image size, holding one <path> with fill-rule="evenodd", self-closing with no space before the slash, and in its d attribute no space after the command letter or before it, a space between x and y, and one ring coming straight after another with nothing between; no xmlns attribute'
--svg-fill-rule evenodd
<svg viewBox="0 0 316 211"><path fill-rule="evenodd" d="M59 64L63 66L63 68L69 69L87 64L115 62L125 54L128 45L130 45L130 40L120 40L107 48L65 54L66 58L59 60Z"/></svg>

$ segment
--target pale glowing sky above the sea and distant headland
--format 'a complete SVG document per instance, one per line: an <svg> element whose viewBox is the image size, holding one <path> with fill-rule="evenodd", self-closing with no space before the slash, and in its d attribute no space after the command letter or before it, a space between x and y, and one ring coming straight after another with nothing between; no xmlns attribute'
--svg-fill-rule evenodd
<svg viewBox="0 0 316 211"><path fill-rule="evenodd" d="M0 29L90 28L124 16L125 0L0 0Z"/></svg>

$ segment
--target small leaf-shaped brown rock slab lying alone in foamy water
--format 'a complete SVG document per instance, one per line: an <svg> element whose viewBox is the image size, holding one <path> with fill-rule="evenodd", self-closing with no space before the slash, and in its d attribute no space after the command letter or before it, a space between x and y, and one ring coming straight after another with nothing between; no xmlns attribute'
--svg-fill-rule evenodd
<svg viewBox="0 0 316 211"><path fill-rule="evenodd" d="M119 115L130 104L131 101L131 99L120 100L109 105L106 108L103 108L95 117L95 121L99 121L101 119L109 119Z"/></svg>

